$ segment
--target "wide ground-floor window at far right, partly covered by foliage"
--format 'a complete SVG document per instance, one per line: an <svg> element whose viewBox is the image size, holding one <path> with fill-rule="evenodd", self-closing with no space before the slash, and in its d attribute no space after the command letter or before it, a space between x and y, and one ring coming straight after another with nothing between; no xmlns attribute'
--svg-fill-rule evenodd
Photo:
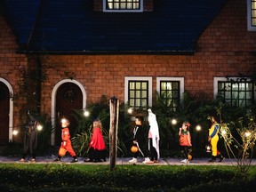
<svg viewBox="0 0 256 192"><path fill-rule="evenodd" d="M241 78L214 78L214 97L222 98L231 106L245 108L254 104L254 92L255 85L250 81L242 81Z"/></svg>

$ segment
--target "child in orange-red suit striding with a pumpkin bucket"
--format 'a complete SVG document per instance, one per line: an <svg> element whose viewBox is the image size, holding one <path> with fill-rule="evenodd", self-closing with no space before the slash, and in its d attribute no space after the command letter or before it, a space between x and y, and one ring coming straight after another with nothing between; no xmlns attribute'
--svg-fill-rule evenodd
<svg viewBox="0 0 256 192"><path fill-rule="evenodd" d="M60 149L59 149L59 156L58 156L58 158L56 158L54 160L56 162L59 162L60 158L62 156L66 155L67 151L68 151L69 155L74 158L70 163L78 162L77 157L76 157L76 152L74 151L74 149L72 148L72 145L71 145L70 134L69 134L69 129L68 129L69 124L70 124L70 122L68 119L63 118L61 120L61 126L62 126L61 140L62 140L62 142L61 142Z"/></svg>

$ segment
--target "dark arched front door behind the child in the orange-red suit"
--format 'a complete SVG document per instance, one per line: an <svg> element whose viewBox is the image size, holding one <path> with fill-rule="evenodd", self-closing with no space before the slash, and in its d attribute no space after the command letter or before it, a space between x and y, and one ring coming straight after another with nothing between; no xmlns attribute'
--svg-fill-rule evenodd
<svg viewBox="0 0 256 192"><path fill-rule="evenodd" d="M83 108L83 94L76 84L64 83L61 84L57 90L56 96L56 123L55 123L55 145L60 146L61 142L61 124L60 118L62 116L68 117L70 121L69 132L71 138L74 137L74 132L76 130L76 119L72 116L73 109Z"/></svg>

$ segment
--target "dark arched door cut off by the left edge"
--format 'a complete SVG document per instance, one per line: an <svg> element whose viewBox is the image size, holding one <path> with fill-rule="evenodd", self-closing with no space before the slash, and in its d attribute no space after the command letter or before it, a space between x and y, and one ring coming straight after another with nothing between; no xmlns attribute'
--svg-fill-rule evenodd
<svg viewBox="0 0 256 192"><path fill-rule="evenodd" d="M10 93L8 87L0 82L0 145L9 142Z"/></svg>

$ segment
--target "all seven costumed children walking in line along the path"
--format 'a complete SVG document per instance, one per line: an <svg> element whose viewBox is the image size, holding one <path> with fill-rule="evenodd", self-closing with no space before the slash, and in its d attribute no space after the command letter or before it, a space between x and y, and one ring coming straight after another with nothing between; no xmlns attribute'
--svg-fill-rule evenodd
<svg viewBox="0 0 256 192"><path fill-rule="evenodd" d="M27 131L25 132L24 137L24 151L23 156L20 159L20 162L25 162L25 158L30 152L32 154L32 162L36 162L36 146L37 146L37 132L36 125L38 122L35 118L32 118L30 115L30 122L27 127ZM133 128L133 138L132 138L132 148L136 148L136 150L132 150L133 156L129 161L131 164L137 163L137 157L143 156L145 160L142 162L144 164L155 164L158 163L160 157L159 150L159 128L156 121L156 115L152 112L150 108L148 108L148 148L145 148L144 143L144 131L142 130L143 124L143 116L135 117L135 126ZM209 162L216 162L217 157L219 157L219 162L225 159L224 156L220 154L220 151L217 148L217 144L219 141L219 129L220 124L217 121L215 116L211 116L212 126L209 129L208 141L212 146L212 158ZM58 157L54 160L54 162L60 162L61 157L65 156L66 153L73 157L73 160L70 163L78 162L76 152L72 148L72 143L70 140L69 126L70 122L67 118L63 118L61 120L61 144L58 153ZM180 137L180 147L184 159L181 160L182 163L188 164L192 160L192 141L191 134L189 132L190 124L188 122L184 122L179 130ZM106 162L106 145L102 134L102 124L100 119L95 119L93 121L92 127L92 138L88 148L89 158L84 159L84 162Z"/></svg>

